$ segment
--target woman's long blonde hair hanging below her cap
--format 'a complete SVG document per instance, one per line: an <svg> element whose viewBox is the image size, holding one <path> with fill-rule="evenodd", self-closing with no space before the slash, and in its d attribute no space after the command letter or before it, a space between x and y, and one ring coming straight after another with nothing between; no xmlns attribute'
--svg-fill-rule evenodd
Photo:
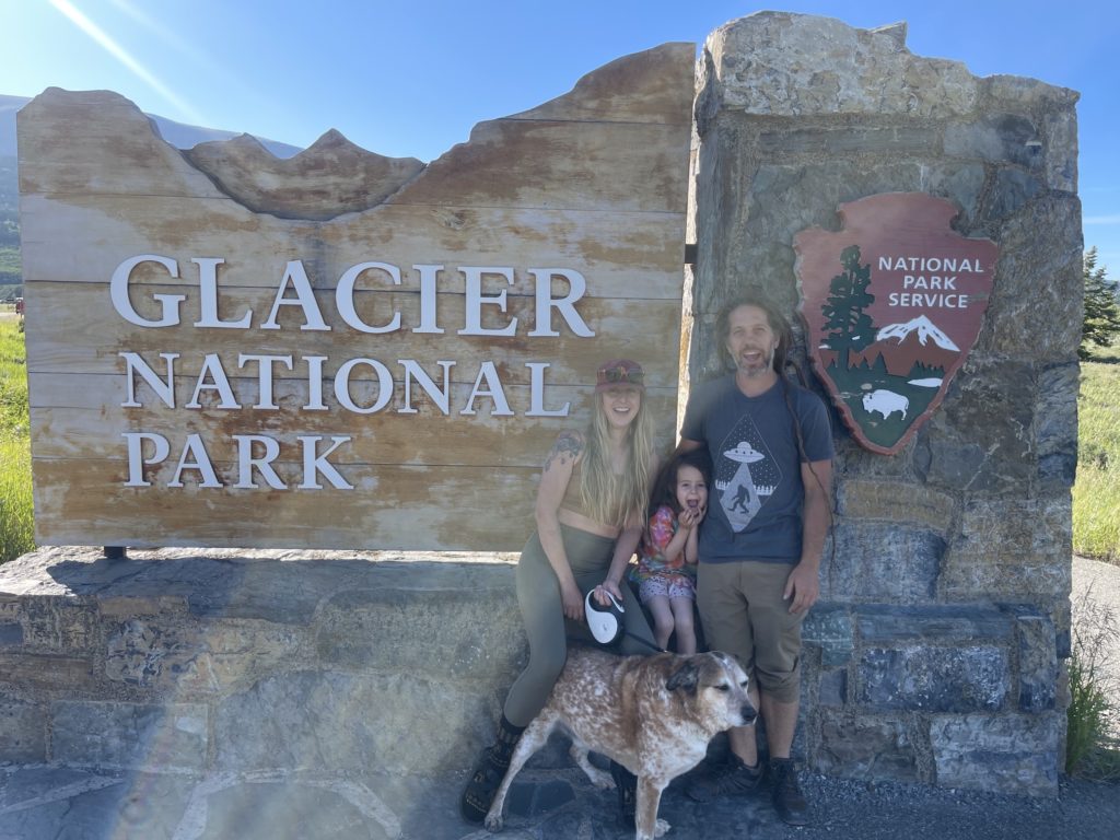
<svg viewBox="0 0 1120 840"><path fill-rule="evenodd" d="M626 466L615 475L610 465L610 428L603 410L603 393L595 395L595 411L586 433L586 448L580 469L579 492L584 510L596 522L617 528L645 524L653 480L653 420L645 408L642 391L637 417L626 430Z"/></svg>

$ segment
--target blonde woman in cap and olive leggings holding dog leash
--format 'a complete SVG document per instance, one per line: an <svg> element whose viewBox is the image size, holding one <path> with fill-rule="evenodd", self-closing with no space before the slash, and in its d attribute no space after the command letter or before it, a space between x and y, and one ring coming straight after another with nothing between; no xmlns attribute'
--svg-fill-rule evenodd
<svg viewBox="0 0 1120 840"><path fill-rule="evenodd" d="M529 637L529 664L513 683L498 725L463 794L465 819L482 822L510 766L521 732L548 700L568 656L567 636L589 638L584 597L606 590L625 608L623 654L656 644L629 587L626 564L645 525L656 470L645 374L637 362L599 367L586 432L564 431L552 446L536 492L536 531L517 563L517 605Z"/></svg>

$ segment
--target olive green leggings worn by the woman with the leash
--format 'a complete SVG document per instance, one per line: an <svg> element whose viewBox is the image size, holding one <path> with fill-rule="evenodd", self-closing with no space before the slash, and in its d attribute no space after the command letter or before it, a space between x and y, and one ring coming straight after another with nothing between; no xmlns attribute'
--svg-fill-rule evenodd
<svg viewBox="0 0 1120 840"><path fill-rule="evenodd" d="M614 557L615 541L608 536L580 531L578 528L560 525L568 564L576 577L576 585L586 596L607 577L610 559ZM592 642L585 622L564 618L560 600L560 581L557 579L549 558L541 548L534 532L525 543L517 562L517 606L525 623L529 637L529 664L513 683L505 699L505 717L514 726L528 726L544 708L552 685L563 670L568 659L567 636ZM642 605L626 586L623 592L624 624L628 633L648 642L623 636L618 653L623 655L653 653L657 643L645 622ZM652 646L650 646L652 645Z"/></svg>

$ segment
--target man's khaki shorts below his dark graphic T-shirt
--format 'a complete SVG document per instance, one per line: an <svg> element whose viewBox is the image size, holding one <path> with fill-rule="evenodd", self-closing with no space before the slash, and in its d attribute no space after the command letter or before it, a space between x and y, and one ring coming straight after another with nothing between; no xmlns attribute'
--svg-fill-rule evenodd
<svg viewBox="0 0 1120 840"><path fill-rule="evenodd" d="M736 656L743 670L773 700L797 700L801 680L801 623L783 599L792 563L732 560L701 562L697 606L709 650Z"/></svg>

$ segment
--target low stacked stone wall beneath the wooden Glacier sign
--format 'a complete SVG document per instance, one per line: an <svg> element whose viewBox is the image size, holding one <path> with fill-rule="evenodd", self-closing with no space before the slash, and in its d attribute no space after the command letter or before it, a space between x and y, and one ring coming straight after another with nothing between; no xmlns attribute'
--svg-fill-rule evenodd
<svg viewBox="0 0 1120 840"><path fill-rule="evenodd" d="M0 763L464 771L524 662L511 563L337 554L63 548L7 563Z"/></svg>

